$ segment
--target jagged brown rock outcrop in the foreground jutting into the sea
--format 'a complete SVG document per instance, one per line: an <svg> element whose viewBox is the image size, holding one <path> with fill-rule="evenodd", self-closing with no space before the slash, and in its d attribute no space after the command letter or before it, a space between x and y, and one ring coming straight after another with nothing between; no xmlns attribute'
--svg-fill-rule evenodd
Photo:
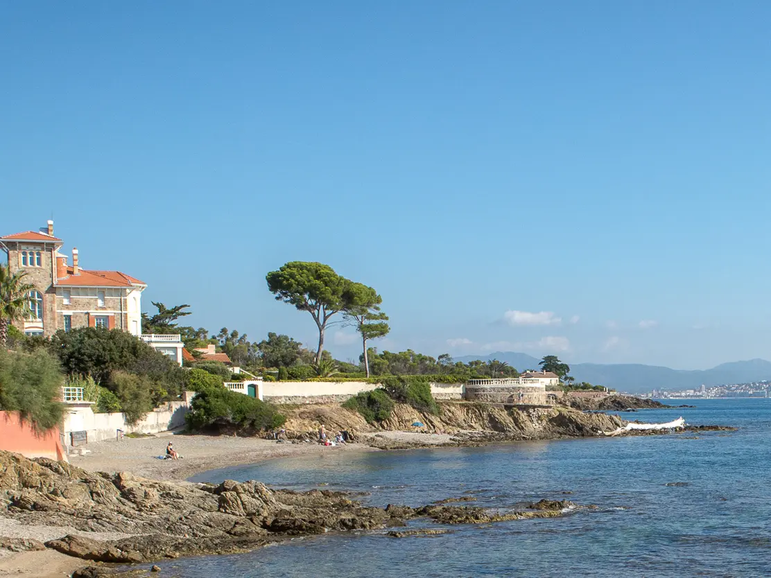
<svg viewBox="0 0 771 578"><path fill-rule="evenodd" d="M468 496L411 508L362 506L346 492L272 490L260 482L157 482L129 473L92 473L49 459L0 452L0 507L22 524L69 526L88 536L45 543L69 556L100 563L139 563L207 553L237 553L288 536L403 526L425 516L438 523L491 523L561 516L569 502L538 502L530 511L500 512L446 506ZM123 539L96 539L120 532ZM407 531L405 531L407 532ZM402 533L402 536L406 536ZM5 543L0 539L0 544ZM39 549L34 540L10 549ZM96 570L80 576L97 576Z"/></svg>

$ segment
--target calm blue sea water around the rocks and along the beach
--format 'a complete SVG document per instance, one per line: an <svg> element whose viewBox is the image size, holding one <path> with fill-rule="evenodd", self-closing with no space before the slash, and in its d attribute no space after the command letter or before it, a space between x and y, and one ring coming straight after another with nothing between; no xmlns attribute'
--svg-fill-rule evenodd
<svg viewBox="0 0 771 578"><path fill-rule="evenodd" d="M569 497L597 510L561 519L452 526L394 539L348 533L295 539L238 556L164 563L211 576L771 576L771 399L705 400L696 408L623 414L645 422L683 415L739 432L523 442L469 449L279 459L207 472L196 481L258 479L273 486L372 492L378 506L417 506L468 492L509 508ZM683 482L685 486L668 486ZM562 492L573 492L565 496ZM437 527L426 520L414 527Z"/></svg>

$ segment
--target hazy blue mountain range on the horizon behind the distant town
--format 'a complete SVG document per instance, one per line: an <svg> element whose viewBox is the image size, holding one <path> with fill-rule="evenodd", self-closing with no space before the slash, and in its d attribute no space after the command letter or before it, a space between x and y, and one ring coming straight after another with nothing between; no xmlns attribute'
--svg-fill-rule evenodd
<svg viewBox="0 0 771 578"><path fill-rule="evenodd" d="M538 361L532 355L513 351L496 351L490 355L464 355L455 361L468 363L475 359L506 361L519 371L537 369ZM771 361L750 359L732 361L712 369L672 369L656 365L621 363L602 365L598 363L571 364L571 375L576 381L588 381L594 385L604 385L628 393L645 393L652 389L679 391L696 389L700 385L722 385L726 383L748 383L751 381L771 380Z"/></svg>

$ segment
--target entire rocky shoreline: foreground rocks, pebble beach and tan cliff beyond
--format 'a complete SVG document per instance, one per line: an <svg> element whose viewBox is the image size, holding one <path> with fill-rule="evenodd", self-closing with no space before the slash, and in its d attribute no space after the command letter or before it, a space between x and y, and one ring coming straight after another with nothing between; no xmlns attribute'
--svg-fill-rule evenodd
<svg viewBox="0 0 771 578"><path fill-rule="evenodd" d="M239 553L294 536L363 530L385 531L384 536L400 538L451 531L412 527L421 519L425 524L452 525L564 516L568 511L594 506L541 500L511 504L501 511L457 503L473 502L469 496L448 496L419 507L377 508L362 505L348 492L294 492L269 489L255 481L226 480L212 485L180 480L207 469L284 455L594 437L627 423L617 415L559 405L517 409L443 402L439 407L439 415L426 415L409 406L398 406L391 420L380 425L367 424L338 404L290 408L287 441L181 435L175 445L193 458L189 460L154 459L157 454L153 452L165 443L157 438L99 442L91 446L92 453L73 456L73 464L0 452L0 556L4 552L31 556L28 567L34 568L42 556L47 556L45 564L49 565L50 556L56 555L62 559L54 560L60 570L74 569L66 563L68 560L70 565L72 561L89 563L88 568L72 576L96 578L115 573L116 564ZM403 431L416 421L424 424L419 432ZM345 426L355 431L360 443L325 448L305 441L320 423L325 423L328 431ZM689 426L678 431L732 429ZM101 469L118 473L96 471ZM411 527L399 529L408 520L413 520ZM137 570L136 575L146 576L147 572ZM0 558L0 574L5 573Z"/></svg>

